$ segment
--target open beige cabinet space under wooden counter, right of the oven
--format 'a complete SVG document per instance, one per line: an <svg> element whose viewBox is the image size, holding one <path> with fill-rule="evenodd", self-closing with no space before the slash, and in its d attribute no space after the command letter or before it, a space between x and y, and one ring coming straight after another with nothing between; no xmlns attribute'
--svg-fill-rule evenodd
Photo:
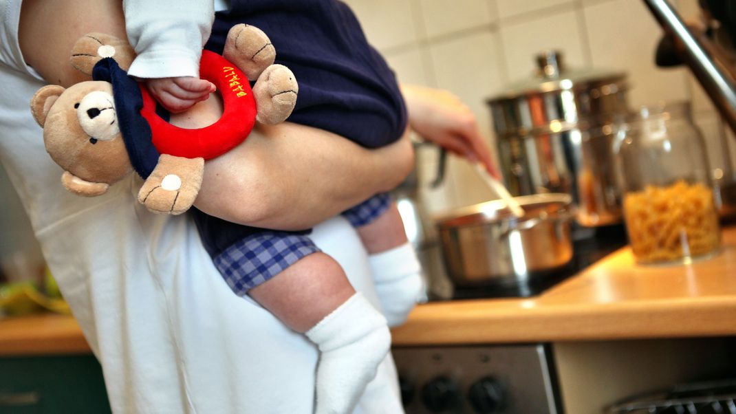
<svg viewBox="0 0 736 414"><path fill-rule="evenodd" d="M736 377L736 338L553 343L567 414L603 414L615 401L673 385Z"/></svg>

